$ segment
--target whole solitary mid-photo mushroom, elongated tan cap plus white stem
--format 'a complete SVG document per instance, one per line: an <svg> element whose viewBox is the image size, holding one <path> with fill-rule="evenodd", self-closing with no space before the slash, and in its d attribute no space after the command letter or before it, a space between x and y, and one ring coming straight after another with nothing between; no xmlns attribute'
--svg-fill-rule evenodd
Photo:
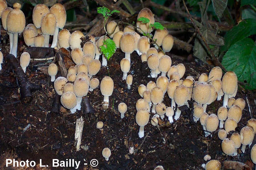
<svg viewBox="0 0 256 170"><path fill-rule="evenodd" d="M109 96L112 95L114 90L114 82L111 77L105 76L100 82L100 92L104 95L104 110L108 109Z"/></svg>

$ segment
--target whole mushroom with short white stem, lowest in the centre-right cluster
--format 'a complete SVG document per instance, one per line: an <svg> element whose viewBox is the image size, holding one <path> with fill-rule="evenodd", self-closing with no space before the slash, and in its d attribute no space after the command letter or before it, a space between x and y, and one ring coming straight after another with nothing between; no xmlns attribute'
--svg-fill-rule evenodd
<svg viewBox="0 0 256 170"><path fill-rule="evenodd" d="M139 137L144 137L144 126L148 124L149 112L146 109L139 109L135 116L136 123L140 126Z"/></svg>

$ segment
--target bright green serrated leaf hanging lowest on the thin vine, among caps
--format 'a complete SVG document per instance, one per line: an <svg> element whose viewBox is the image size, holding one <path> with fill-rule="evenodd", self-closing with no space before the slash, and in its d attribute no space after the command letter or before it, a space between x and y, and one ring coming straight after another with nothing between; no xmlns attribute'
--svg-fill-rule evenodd
<svg viewBox="0 0 256 170"><path fill-rule="evenodd" d="M100 51L105 55L109 60L113 56L116 50L115 42L112 39L106 39L103 41L103 45L100 46Z"/></svg>

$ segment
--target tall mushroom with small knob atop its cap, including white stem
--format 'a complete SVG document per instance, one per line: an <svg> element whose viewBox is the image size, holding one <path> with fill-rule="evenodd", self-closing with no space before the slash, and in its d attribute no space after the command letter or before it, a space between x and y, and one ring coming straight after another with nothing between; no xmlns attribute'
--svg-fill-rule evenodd
<svg viewBox="0 0 256 170"><path fill-rule="evenodd" d="M9 32L10 39L13 36L13 46L11 54L17 58L17 43L18 34L22 33L25 28L26 19L24 13L20 10L20 3L13 4L13 10L7 15L7 30Z"/></svg>

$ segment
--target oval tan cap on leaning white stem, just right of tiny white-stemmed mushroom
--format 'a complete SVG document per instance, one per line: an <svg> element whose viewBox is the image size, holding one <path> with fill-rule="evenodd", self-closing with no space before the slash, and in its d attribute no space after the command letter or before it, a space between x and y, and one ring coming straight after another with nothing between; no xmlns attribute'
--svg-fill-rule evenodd
<svg viewBox="0 0 256 170"><path fill-rule="evenodd" d="M174 91L174 101L177 105L183 106L189 97L189 91L186 86L179 85Z"/></svg>

